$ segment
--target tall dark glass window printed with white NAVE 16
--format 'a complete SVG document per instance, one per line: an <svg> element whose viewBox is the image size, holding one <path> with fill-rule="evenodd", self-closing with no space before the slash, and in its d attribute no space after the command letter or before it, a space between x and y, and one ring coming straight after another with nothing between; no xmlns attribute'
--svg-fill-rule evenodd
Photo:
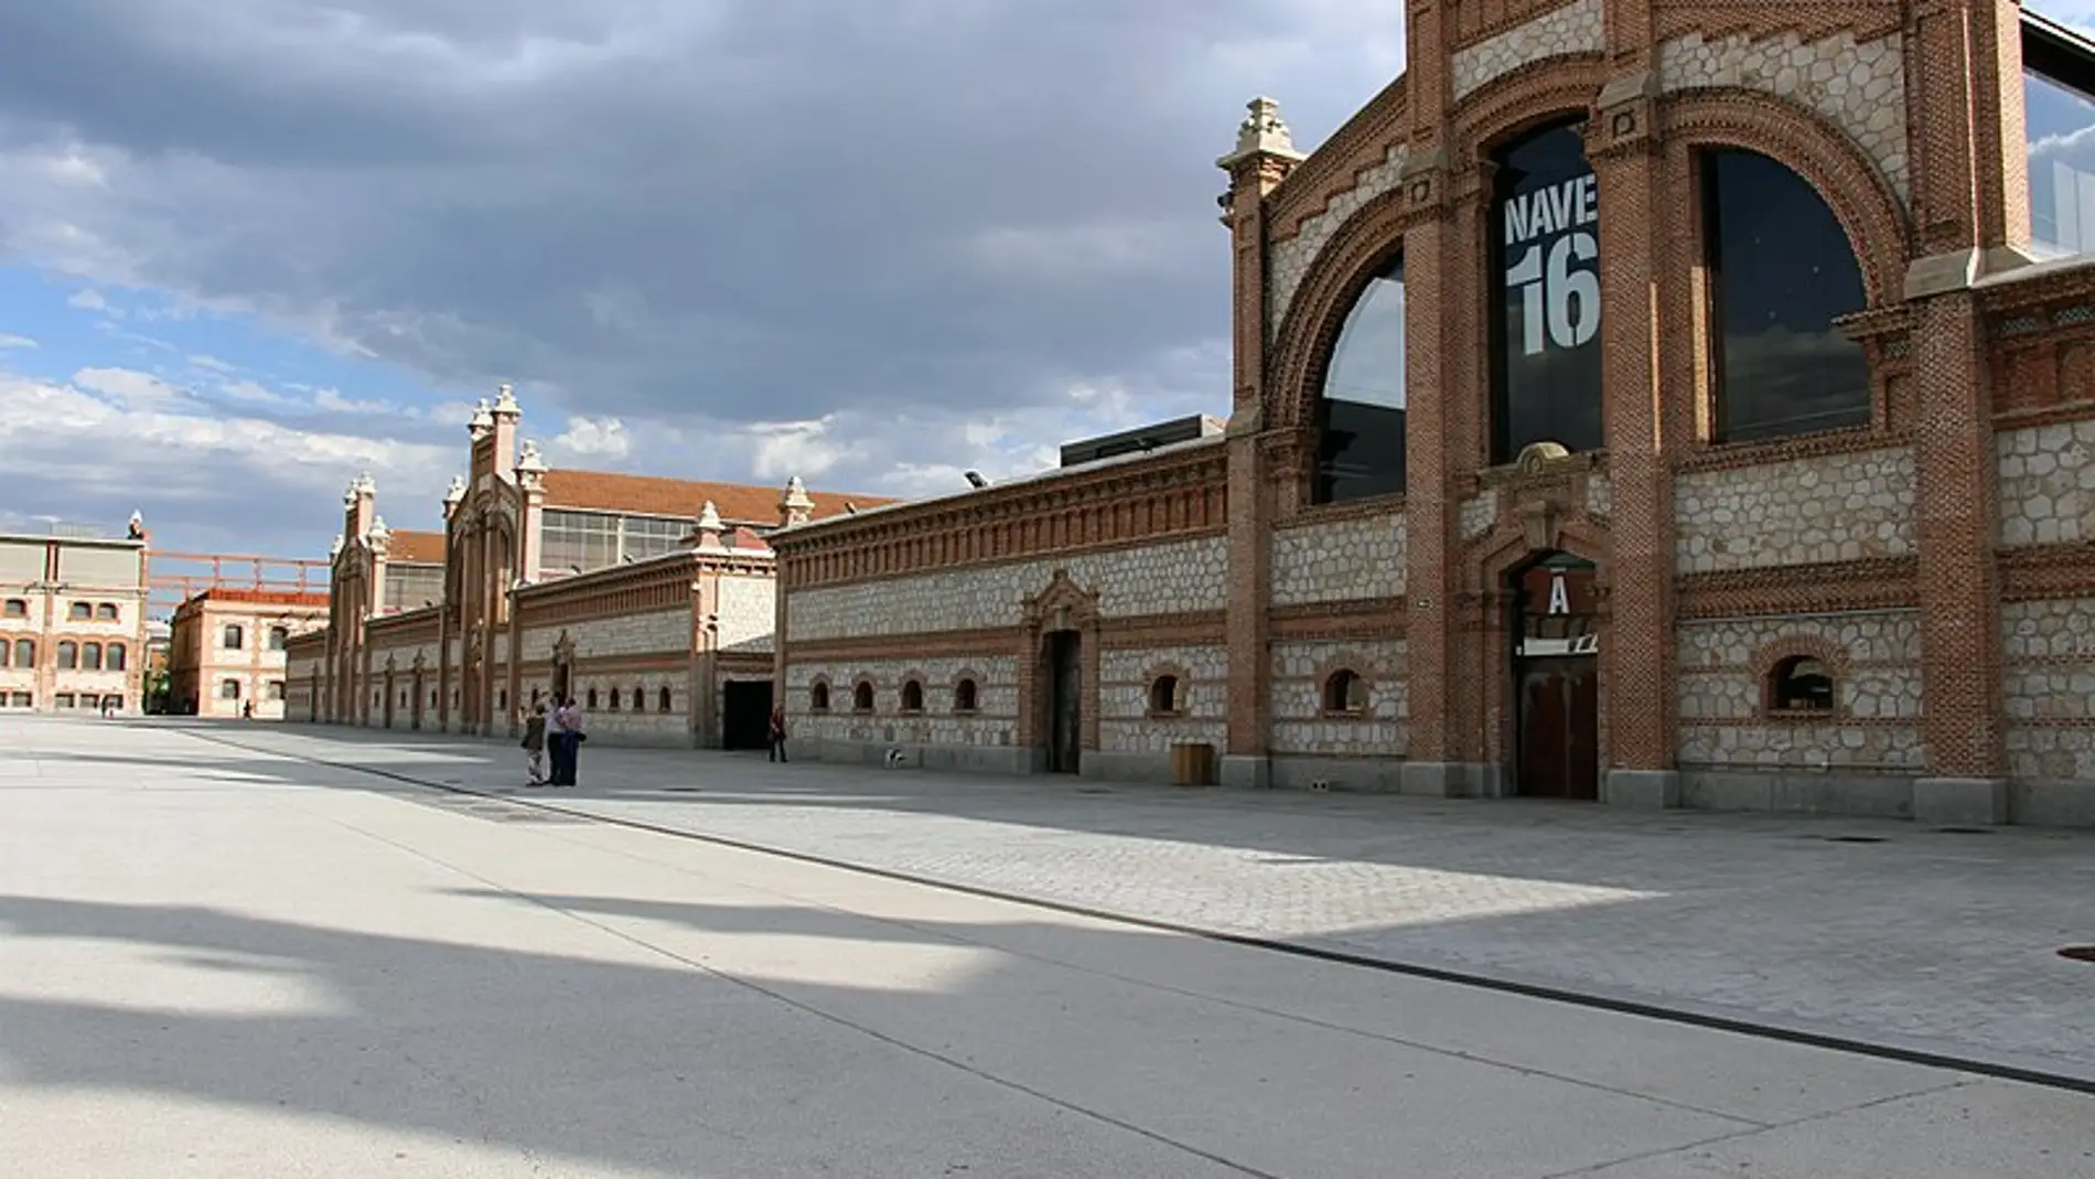
<svg viewBox="0 0 2095 1179"><path fill-rule="evenodd" d="M1536 442L1598 450L1601 186L1580 126L1492 161L1492 461Z"/></svg>

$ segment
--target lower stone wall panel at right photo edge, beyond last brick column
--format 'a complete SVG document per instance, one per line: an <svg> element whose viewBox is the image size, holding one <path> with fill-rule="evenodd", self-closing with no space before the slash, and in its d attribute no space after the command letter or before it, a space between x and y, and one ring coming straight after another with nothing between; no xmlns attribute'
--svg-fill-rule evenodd
<svg viewBox="0 0 2095 1179"><path fill-rule="evenodd" d="M2095 825L2095 599L2001 607L2015 817Z"/></svg>

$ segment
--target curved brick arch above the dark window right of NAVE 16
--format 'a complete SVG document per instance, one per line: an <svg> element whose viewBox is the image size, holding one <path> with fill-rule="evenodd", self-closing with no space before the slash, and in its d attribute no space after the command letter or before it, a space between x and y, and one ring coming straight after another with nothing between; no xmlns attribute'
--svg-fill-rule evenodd
<svg viewBox="0 0 2095 1179"><path fill-rule="evenodd" d="M1902 297L1911 241L1904 203L1844 130L1787 98L1728 86L1668 94L1659 119L1670 151L1737 147L1795 172L1848 232L1869 306Z"/></svg>

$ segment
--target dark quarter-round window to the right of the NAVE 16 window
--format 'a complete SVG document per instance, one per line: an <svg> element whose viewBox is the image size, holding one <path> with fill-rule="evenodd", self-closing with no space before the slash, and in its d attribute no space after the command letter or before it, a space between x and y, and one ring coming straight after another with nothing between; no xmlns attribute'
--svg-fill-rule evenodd
<svg viewBox="0 0 2095 1179"><path fill-rule="evenodd" d="M1869 358L1833 320L1862 310L1862 268L1833 209L1754 151L1701 155L1714 442L1869 425Z"/></svg>

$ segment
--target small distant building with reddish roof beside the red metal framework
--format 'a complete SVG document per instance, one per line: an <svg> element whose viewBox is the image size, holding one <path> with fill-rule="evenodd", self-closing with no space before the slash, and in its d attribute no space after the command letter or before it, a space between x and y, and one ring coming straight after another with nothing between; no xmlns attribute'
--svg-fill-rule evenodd
<svg viewBox="0 0 2095 1179"><path fill-rule="evenodd" d="M168 697L186 716L283 720L291 639L327 626L325 593L212 586L174 609Z"/></svg>

